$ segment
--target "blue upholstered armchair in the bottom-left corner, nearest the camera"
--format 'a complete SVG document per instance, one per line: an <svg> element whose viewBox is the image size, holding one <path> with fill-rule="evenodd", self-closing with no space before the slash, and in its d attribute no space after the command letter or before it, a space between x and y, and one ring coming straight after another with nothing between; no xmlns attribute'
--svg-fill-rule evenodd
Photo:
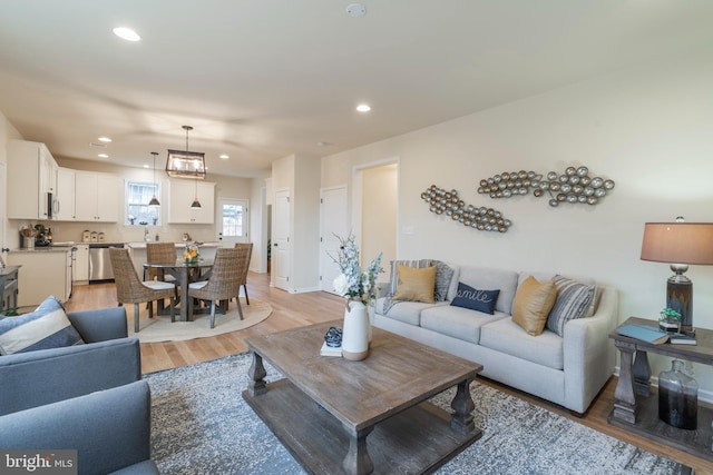
<svg viewBox="0 0 713 475"><path fill-rule="evenodd" d="M4 449L77 449L81 473L150 459L150 392L144 380L0 416ZM150 471L149 464L144 473ZM155 466L154 466L155 468Z"/></svg>

